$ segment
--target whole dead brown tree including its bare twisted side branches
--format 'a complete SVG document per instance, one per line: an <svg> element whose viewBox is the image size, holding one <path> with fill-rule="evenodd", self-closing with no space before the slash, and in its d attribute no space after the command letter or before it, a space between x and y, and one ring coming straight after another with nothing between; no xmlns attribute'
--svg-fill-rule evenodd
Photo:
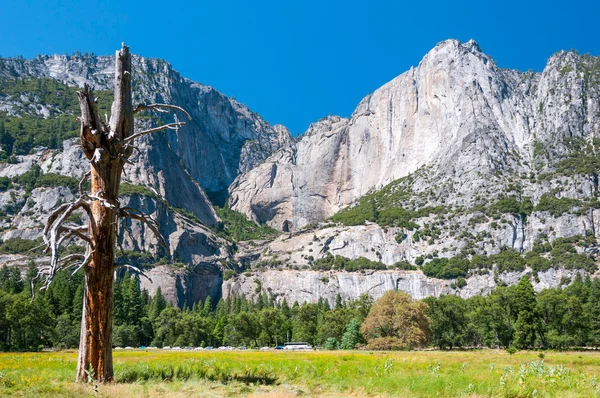
<svg viewBox="0 0 600 398"><path fill-rule="evenodd" d="M176 121L134 133L133 115L140 110L168 112L168 109L180 110L188 118L189 115L177 106L165 104L139 105L133 109L131 55L125 45L116 55L114 102L110 122L103 121L98 115L97 102L87 85L79 93L79 105L81 147L90 162L90 172L84 180L87 177L91 179L91 192L84 194L82 180L79 199L61 205L48 218L44 240L48 250L52 250L52 261L49 267L40 270L40 275L46 277L45 288L58 269L68 267L72 261L81 261L75 270L83 268L85 273L77 380L109 382L113 380L113 275L118 220L128 217L144 222L160 238L153 219L139 210L120 206L118 198L123 166L129 162L136 138L164 129L177 129L184 124ZM89 224L85 228L66 224L68 216L77 209L87 212ZM59 258L58 246L71 237L80 238L87 243L86 254Z"/></svg>

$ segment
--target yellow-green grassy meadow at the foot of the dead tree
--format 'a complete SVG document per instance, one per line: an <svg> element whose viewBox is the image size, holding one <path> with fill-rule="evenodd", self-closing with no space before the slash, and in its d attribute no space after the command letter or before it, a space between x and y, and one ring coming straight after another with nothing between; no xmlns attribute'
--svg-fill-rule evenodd
<svg viewBox="0 0 600 398"><path fill-rule="evenodd" d="M116 351L116 383L76 384L76 352L0 354L0 396L600 397L600 353Z"/></svg>

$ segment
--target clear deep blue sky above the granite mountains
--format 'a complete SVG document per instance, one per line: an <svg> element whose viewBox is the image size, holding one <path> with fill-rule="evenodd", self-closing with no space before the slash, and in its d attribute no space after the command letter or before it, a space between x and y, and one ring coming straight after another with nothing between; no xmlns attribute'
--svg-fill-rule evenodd
<svg viewBox="0 0 600 398"><path fill-rule="evenodd" d="M542 70L561 49L600 55L600 1L2 0L0 56L169 61L295 133L349 116L439 41L475 39L499 66Z"/></svg>

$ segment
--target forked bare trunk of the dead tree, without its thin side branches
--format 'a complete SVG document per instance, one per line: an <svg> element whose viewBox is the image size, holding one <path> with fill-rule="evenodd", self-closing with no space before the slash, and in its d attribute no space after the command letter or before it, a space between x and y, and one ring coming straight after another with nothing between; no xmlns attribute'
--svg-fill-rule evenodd
<svg viewBox="0 0 600 398"><path fill-rule="evenodd" d="M89 87L79 94L81 108L81 147L90 160L91 203L96 234L91 230L92 250L84 267L85 293L77 361L77 380L88 378L112 381L112 309L119 185L127 159L125 139L133 135L131 100L131 55L125 46L117 51L114 102L109 125L98 115Z"/></svg>

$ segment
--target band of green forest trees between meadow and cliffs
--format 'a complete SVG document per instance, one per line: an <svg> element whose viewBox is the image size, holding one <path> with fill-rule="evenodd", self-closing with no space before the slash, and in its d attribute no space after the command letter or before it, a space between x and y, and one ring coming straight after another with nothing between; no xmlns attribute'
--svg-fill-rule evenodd
<svg viewBox="0 0 600 398"><path fill-rule="evenodd" d="M75 348L83 300L81 272L60 272L36 291L33 262L24 275L0 268L0 350ZM32 289L35 296L32 299ZM326 349L434 346L568 349L600 344L600 280L577 276L568 286L533 290L528 277L487 296L416 300L399 291L373 301L363 295L334 305L288 303L261 292L255 300L210 298L189 308L154 297L139 280L115 284L113 346L247 346L306 341Z"/></svg>

